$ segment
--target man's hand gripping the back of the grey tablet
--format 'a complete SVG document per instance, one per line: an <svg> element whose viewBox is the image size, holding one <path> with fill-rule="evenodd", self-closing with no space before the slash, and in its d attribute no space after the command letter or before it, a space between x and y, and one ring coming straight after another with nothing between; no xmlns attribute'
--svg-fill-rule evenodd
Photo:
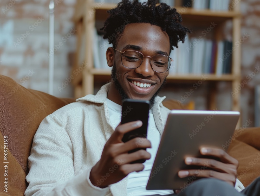
<svg viewBox="0 0 260 196"><path fill-rule="evenodd" d="M178 175L180 178L187 176L196 176L199 178L217 178L228 182L230 185L235 186L237 177L238 161L231 157L222 149L217 148L201 148L202 155L214 156L219 158L220 161L214 159L186 157L186 165L202 166L202 169L181 170ZM209 169L205 169L209 168Z"/></svg>

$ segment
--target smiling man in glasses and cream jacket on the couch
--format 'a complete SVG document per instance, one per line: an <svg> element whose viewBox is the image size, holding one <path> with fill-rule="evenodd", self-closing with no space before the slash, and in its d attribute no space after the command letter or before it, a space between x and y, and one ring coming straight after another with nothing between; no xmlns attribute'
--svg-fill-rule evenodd
<svg viewBox="0 0 260 196"><path fill-rule="evenodd" d="M181 16L176 9L156 2L123 0L109 11L104 38L116 34L110 40L113 48L106 52L108 66L113 67L113 80L95 96L77 99L42 121L29 157L30 172L26 178L29 186L25 196L174 194L173 190L147 191L145 186L170 112L161 104L165 97L158 97L157 93L169 73L170 51L179 41L184 42L190 30L180 24ZM126 21L125 28L116 31ZM125 98L151 102L149 134L138 145L148 148L147 151L128 154L140 138L121 141L126 132L139 128L141 121L114 126L120 122ZM178 195L243 195L234 189L238 182L238 161L219 149L203 148L201 153L221 161L187 158L187 165L203 166L209 161L210 169L201 171L199 176L194 170L180 171L181 178L195 175L209 179L177 190ZM147 161L130 164L139 159Z"/></svg>

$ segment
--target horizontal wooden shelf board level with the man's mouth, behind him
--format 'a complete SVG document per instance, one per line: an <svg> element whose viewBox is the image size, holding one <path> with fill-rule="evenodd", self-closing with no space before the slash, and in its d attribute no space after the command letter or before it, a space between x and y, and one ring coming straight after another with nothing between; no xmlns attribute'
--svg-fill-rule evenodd
<svg viewBox="0 0 260 196"><path fill-rule="evenodd" d="M105 75L110 76L111 71L106 69L91 69L90 73L93 75ZM207 81L233 81L239 79L239 76L232 75L232 74L222 74L222 75L216 75L216 74L200 74L200 75L194 75L194 74L169 74L167 76L168 80L201 80L205 76Z"/></svg>

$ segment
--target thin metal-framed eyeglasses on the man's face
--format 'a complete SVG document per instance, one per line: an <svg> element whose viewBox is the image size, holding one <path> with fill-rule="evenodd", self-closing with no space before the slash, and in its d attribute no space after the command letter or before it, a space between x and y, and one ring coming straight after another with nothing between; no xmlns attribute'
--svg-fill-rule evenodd
<svg viewBox="0 0 260 196"><path fill-rule="evenodd" d="M151 58L150 64L153 71L163 73L168 71L171 66L171 62L173 61L169 56L161 54L144 56L142 53L134 50L126 50L125 52L121 52L117 49L115 50L122 53L122 64L124 67L129 69L135 69L139 67L143 62L144 57L148 57Z"/></svg>

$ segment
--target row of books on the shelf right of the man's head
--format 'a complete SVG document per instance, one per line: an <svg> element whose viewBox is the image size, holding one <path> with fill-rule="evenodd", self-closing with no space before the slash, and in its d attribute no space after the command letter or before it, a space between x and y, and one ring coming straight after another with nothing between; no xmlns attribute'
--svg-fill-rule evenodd
<svg viewBox="0 0 260 196"><path fill-rule="evenodd" d="M170 74L230 74L232 42L187 38L171 51Z"/></svg>

